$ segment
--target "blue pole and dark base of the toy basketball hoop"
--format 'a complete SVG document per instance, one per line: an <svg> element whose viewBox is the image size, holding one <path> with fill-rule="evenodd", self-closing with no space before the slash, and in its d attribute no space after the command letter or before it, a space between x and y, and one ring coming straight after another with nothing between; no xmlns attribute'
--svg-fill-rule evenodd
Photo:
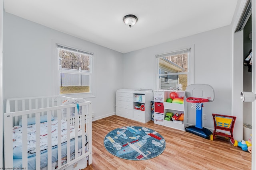
<svg viewBox="0 0 256 170"><path fill-rule="evenodd" d="M206 129L205 127L203 127L203 121L202 121L203 106L204 105L201 104L200 108L196 109L196 125L186 127L185 131L193 133L205 139L210 139L210 135L212 135L212 132L209 129Z"/></svg>

